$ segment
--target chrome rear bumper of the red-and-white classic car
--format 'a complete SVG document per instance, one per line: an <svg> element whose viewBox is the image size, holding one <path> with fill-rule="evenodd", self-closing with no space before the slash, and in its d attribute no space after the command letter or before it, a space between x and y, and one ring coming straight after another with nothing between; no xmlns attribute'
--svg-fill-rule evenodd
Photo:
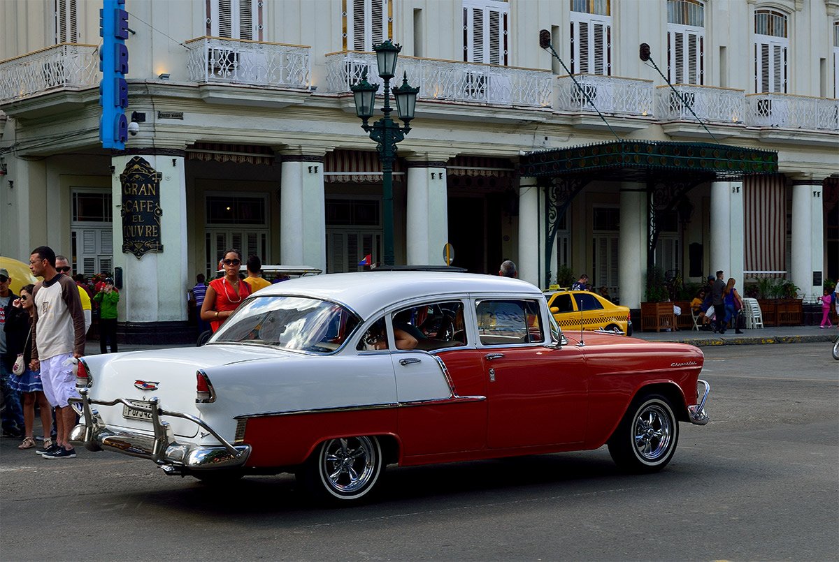
<svg viewBox="0 0 839 562"><path fill-rule="evenodd" d="M83 423L70 432L70 441L83 443L88 451L116 451L123 455L139 456L156 462L167 474L180 475L188 472L203 472L217 469L241 467L251 453L251 446L233 446L218 435L209 425L194 415L170 412L159 407L159 400L153 397L149 407L134 405L128 400L91 400L88 389L79 389ZM115 430L102 421L99 412L91 405L113 406L122 404L131 410L151 415L154 435L138 431ZM195 445L179 443L169 423L160 419L162 415L190 420L215 437L221 445Z"/></svg>

